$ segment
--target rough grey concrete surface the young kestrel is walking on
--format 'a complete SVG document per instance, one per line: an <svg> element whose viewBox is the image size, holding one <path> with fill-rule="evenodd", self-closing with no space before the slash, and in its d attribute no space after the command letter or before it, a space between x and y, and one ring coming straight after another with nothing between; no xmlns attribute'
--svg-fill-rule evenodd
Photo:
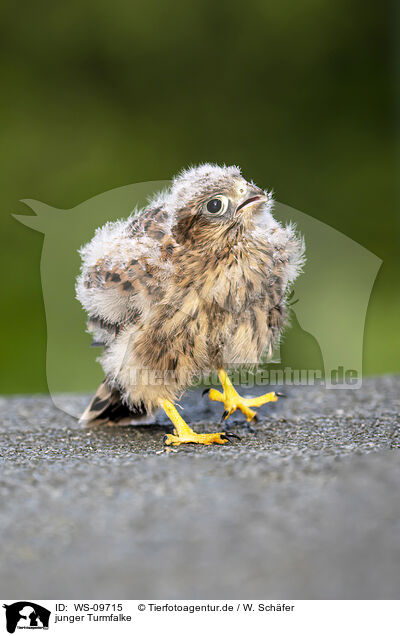
<svg viewBox="0 0 400 636"><path fill-rule="evenodd" d="M48 397L2 398L1 596L399 598L399 389L286 387L256 433L172 451L161 426L82 430ZM222 405L183 405L221 430Z"/></svg>

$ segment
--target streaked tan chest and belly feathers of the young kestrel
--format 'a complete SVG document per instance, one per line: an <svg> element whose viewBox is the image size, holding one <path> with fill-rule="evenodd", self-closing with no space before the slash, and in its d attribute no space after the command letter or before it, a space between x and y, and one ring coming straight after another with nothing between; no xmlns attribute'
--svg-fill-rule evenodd
<svg viewBox="0 0 400 636"><path fill-rule="evenodd" d="M204 369L259 359L272 336L271 247L247 241L208 255L178 249L173 264L168 293L154 308L151 338L165 343L166 352L172 347L184 366ZM161 364L169 365L168 353Z"/></svg>

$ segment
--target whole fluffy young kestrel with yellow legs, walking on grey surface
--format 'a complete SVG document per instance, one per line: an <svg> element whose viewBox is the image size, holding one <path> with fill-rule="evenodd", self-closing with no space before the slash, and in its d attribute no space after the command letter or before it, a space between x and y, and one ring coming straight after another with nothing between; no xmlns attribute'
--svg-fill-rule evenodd
<svg viewBox="0 0 400 636"><path fill-rule="evenodd" d="M204 163L126 219L108 222L80 249L76 296L105 378L83 425L146 422L160 408L167 446L226 444L231 433L196 433L176 406L199 374L217 371L225 421L237 409L277 401L244 398L229 368L271 354L288 323L288 296L305 261L304 239L273 216L274 197L238 166Z"/></svg>

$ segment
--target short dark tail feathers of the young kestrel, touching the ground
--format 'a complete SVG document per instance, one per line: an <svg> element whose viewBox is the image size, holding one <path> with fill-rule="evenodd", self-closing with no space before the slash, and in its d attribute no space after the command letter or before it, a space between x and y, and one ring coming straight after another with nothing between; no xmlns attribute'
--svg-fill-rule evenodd
<svg viewBox="0 0 400 636"><path fill-rule="evenodd" d="M79 423L83 426L96 426L98 424L133 424L150 423L154 419L149 415L142 403L126 405L123 403L118 389L110 387L104 380L89 406L82 413Z"/></svg>

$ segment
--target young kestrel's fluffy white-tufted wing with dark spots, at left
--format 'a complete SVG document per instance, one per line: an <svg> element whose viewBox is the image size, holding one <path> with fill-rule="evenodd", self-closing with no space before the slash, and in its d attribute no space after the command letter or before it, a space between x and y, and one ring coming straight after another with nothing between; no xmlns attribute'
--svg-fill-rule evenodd
<svg viewBox="0 0 400 636"><path fill-rule="evenodd" d="M163 297L174 249L160 208L107 223L81 249L77 298L89 314L96 344L109 344L121 326L144 319Z"/></svg>

